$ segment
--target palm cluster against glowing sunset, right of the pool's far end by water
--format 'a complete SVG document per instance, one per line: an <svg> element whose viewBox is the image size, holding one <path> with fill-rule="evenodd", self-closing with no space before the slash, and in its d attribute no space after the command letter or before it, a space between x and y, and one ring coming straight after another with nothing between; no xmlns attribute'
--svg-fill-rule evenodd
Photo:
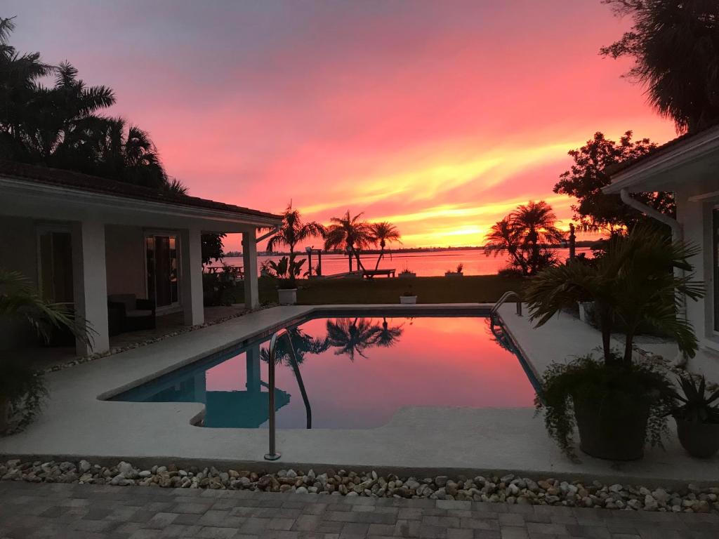
<svg viewBox="0 0 719 539"><path fill-rule="evenodd" d="M556 222L557 216L549 204L529 201L492 226L487 234L485 254L496 257L506 252L510 267L520 270L522 275L536 275L556 262L548 248L564 239Z"/></svg>

